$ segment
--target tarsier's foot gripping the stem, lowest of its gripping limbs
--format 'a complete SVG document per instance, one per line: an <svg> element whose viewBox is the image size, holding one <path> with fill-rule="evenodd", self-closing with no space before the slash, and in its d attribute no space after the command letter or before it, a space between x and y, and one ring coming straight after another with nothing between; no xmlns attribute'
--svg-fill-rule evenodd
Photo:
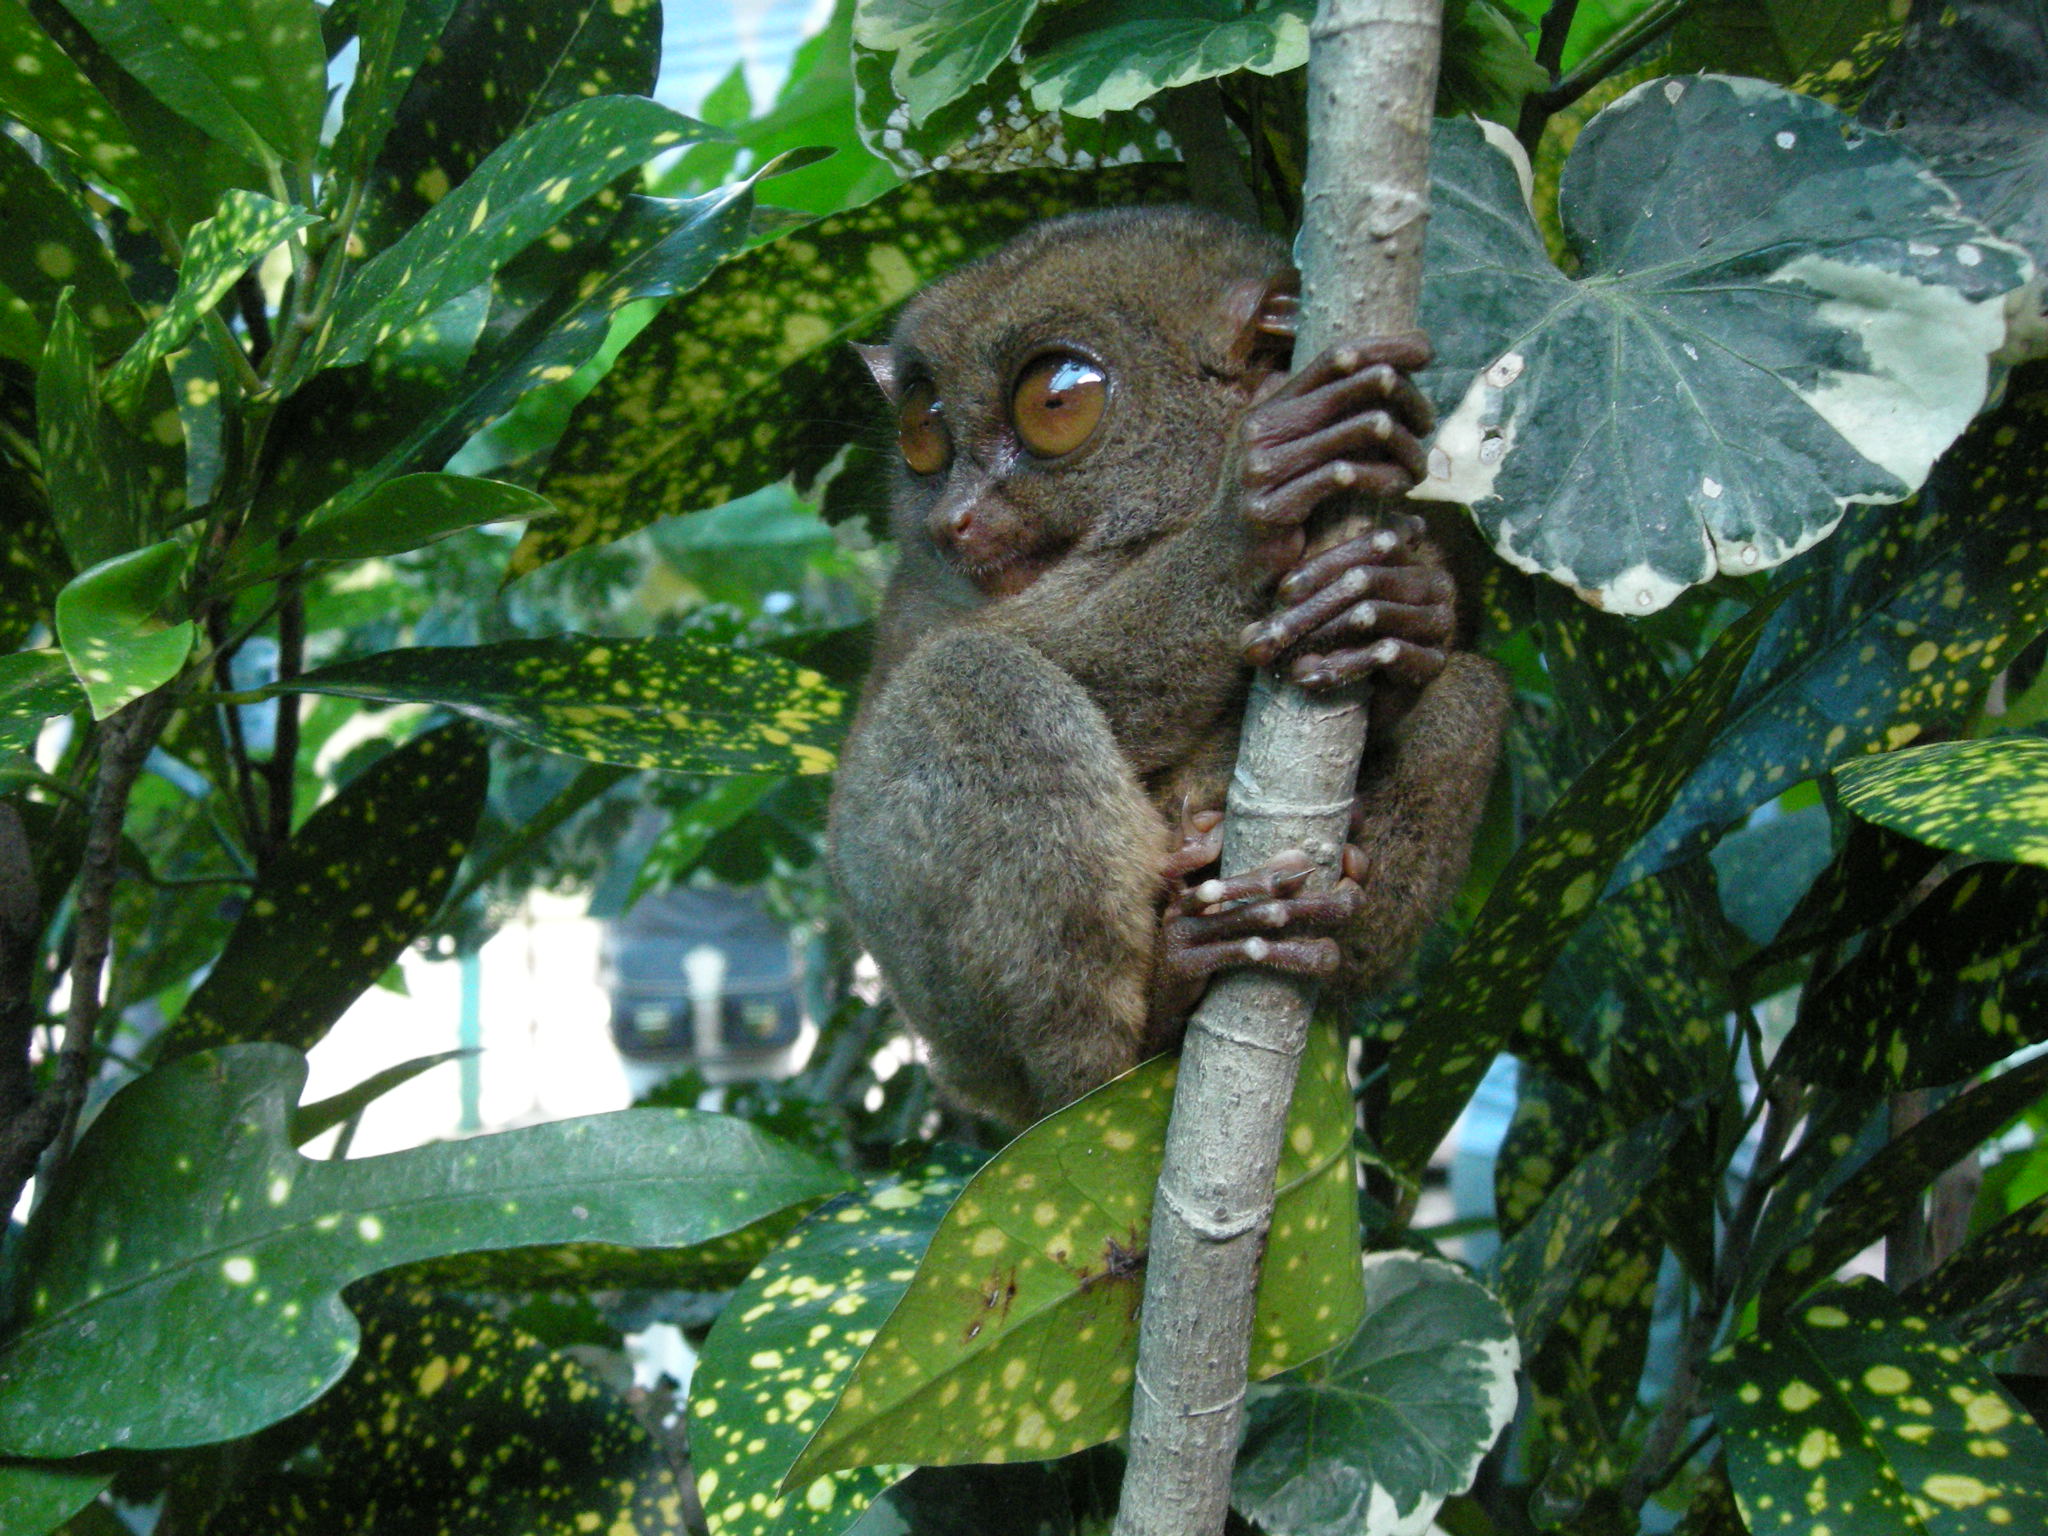
<svg viewBox="0 0 2048 1536"><path fill-rule="evenodd" d="M1223 813L1182 819L1182 846L1167 856L1167 903L1159 915L1159 958L1153 975L1153 1044L1180 1036L1210 977L1257 965L1298 977L1335 975L1339 934L1364 905L1358 877L1364 854L1343 850L1343 879L1329 891L1303 891L1315 872L1307 854L1284 852L1255 870L1194 881L1223 852Z"/></svg>

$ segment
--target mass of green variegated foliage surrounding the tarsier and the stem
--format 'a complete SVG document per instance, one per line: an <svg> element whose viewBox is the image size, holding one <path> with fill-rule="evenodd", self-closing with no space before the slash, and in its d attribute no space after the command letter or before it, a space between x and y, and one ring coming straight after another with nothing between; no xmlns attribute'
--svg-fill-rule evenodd
<svg viewBox="0 0 2048 1536"><path fill-rule="evenodd" d="M842 0L686 119L653 0L0 0L0 1526L1102 1520L1174 1073L989 1159L852 991L844 342L1044 213L1288 225L1309 10ZM1425 383L1518 702L1464 922L1358 1020L1364 1190L1337 1030L1305 1075L1272 1536L2040 1520L2048 37L1898 14L1450 6L1493 127L1438 129ZM434 1065L299 1104L406 946L682 881L823 932L801 1073L299 1151ZM1360 1323L1356 1214L1432 1245L1501 1049L1491 1292L1374 1253ZM616 1374L649 1321L688 1446Z"/></svg>

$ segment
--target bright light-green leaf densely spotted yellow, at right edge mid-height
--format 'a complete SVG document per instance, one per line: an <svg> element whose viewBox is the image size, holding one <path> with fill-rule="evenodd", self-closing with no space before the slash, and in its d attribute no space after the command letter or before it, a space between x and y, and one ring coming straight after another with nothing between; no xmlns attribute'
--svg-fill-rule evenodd
<svg viewBox="0 0 2048 1536"><path fill-rule="evenodd" d="M1866 821L1970 858L2048 864L2048 741L2001 735L1858 758L1835 770Z"/></svg>

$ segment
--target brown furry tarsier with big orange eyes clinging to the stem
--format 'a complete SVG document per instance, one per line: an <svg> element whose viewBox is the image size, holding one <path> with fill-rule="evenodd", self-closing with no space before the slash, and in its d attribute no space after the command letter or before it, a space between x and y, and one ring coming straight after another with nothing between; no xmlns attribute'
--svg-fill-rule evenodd
<svg viewBox="0 0 2048 1536"><path fill-rule="evenodd" d="M1284 248L1194 209L1036 225L862 348L901 457L889 584L831 805L854 928L940 1092L1022 1124L1180 1040L1260 965L1384 985L1464 877L1499 670L1458 651L1442 545L1397 514L1434 426L1421 336L1288 375ZM1255 666L1370 682L1331 889L1208 866Z"/></svg>

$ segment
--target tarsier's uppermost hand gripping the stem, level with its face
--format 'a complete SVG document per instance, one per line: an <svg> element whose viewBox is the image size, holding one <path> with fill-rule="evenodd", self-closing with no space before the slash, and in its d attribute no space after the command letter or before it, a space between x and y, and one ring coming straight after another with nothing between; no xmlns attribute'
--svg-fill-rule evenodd
<svg viewBox="0 0 2048 1536"><path fill-rule="evenodd" d="M1419 332L1370 336L1329 348L1253 406L1241 428L1253 530L1278 537L1341 492L1391 498L1421 481L1436 412L1407 375L1427 362Z"/></svg>

